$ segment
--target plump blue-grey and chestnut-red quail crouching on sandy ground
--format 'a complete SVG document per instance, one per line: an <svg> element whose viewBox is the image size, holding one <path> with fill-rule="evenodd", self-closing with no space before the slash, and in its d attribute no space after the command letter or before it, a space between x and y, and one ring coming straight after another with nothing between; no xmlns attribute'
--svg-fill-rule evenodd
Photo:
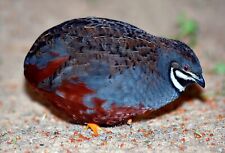
<svg viewBox="0 0 225 153"><path fill-rule="evenodd" d="M85 17L43 32L24 60L27 82L76 124L124 124L205 87L185 43L123 21Z"/></svg>

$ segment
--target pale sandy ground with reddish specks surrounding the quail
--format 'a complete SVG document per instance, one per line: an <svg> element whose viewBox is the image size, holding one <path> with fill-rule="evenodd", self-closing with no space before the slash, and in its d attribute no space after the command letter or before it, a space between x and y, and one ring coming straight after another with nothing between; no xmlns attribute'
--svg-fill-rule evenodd
<svg viewBox="0 0 225 153"><path fill-rule="evenodd" d="M225 61L224 8L223 0L1 0L0 152L225 152L225 76L212 72ZM182 100L152 119L104 128L93 137L29 93L23 60L44 30L72 18L101 16L171 37L182 11L199 23L194 49L206 78L201 94L208 100Z"/></svg>

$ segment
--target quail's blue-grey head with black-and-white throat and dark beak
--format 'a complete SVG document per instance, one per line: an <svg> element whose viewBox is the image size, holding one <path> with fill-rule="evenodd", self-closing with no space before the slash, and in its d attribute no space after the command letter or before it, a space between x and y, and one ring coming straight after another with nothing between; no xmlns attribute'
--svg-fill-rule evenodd
<svg viewBox="0 0 225 153"><path fill-rule="evenodd" d="M186 44L170 40L171 46L164 50L163 62L168 66L167 74L173 86L179 92L193 83L205 87L200 62L193 50ZM165 63L164 63L165 64Z"/></svg>

